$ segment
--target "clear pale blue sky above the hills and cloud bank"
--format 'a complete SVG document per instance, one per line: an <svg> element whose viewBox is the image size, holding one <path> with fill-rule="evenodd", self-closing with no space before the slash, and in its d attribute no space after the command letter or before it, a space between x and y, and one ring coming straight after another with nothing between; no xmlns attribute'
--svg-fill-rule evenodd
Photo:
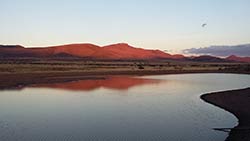
<svg viewBox="0 0 250 141"><path fill-rule="evenodd" d="M0 44L128 43L168 52L246 44L249 7L250 0L0 0Z"/></svg>

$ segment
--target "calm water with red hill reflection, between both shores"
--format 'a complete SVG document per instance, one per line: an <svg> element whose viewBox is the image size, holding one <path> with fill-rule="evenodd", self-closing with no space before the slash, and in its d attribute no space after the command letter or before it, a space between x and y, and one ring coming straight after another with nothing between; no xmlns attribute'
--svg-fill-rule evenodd
<svg viewBox="0 0 250 141"><path fill-rule="evenodd" d="M222 141L213 128L237 119L199 96L249 86L250 75L181 74L0 91L0 140Z"/></svg>

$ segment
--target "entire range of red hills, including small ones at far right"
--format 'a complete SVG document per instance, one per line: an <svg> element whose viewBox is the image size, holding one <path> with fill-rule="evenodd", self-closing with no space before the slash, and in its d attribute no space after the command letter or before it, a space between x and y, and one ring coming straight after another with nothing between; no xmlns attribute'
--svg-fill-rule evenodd
<svg viewBox="0 0 250 141"><path fill-rule="evenodd" d="M181 54L171 55L160 50L149 50L132 47L126 43L108 46L97 46L94 44L68 44L50 47L25 48L20 45L0 45L0 58L83 58L99 60L151 60L171 59L190 61L237 61L250 62L250 57L238 57L235 55L227 58L214 56L185 57Z"/></svg>

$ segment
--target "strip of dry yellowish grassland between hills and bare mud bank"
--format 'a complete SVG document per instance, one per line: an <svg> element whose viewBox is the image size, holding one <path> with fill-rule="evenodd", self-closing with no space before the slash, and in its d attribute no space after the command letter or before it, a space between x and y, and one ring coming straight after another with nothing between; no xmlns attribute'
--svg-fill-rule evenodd
<svg viewBox="0 0 250 141"><path fill-rule="evenodd" d="M0 60L0 74L105 71L215 71L249 73L250 64L188 61Z"/></svg>

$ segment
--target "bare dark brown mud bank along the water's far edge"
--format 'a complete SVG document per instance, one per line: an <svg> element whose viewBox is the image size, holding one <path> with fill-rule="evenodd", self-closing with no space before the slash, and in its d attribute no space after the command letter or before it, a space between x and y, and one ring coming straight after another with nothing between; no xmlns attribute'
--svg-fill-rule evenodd
<svg viewBox="0 0 250 141"><path fill-rule="evenodd" d="M39 73L0 73L0 90L22 89L31 84L50 84L79 81L86 79L105 79L108 76L128 75L167 75L192 73L233 73L249 74L249 72L231 72L214 70L133 70L133 71L89 71L89 72L39 72Z"/></svg>

